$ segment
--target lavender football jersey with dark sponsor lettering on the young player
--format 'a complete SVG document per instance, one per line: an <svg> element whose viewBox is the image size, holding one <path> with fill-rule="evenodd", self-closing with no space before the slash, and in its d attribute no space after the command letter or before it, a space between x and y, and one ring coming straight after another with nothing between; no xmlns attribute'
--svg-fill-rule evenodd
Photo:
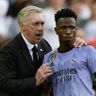
<svg viewBox="0 0 96 96"><path fill-rule="evenodd" d="M54 96L95 96L92 74L96 72L96 49L90 45L64 53L51 51L44 62L52 67Z"/></svg>

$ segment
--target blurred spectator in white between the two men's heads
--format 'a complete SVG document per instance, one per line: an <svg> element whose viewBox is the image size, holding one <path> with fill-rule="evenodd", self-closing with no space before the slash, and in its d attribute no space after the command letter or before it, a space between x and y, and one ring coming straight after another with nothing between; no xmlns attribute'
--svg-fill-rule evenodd
<svg viewBox="0 0 96 96"><path fill-rule="evenodd" d="M45 33L44 38L49 42L52 49L55 49L59 46L58 36L55 33L55 21L54 14L64 7L65 0L48 0L49 7L44 9L45 15Z"/></svg>

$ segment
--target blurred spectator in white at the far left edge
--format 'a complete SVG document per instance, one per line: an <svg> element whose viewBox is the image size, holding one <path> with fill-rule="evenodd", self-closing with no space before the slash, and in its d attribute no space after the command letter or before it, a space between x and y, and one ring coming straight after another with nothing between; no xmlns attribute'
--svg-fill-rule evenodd
<svg viewBox="0 0 96 96"><path fill-rule="evenodd" d="M0 0L0 48L8 40L6 13L9 7L7 0Z"/></svg>

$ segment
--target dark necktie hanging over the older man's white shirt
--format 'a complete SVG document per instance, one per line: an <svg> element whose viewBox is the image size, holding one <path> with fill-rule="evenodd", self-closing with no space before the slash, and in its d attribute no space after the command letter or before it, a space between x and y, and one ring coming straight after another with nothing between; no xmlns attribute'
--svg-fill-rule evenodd
<svg viewBox="0 0 96 96"><path fill-rule="evenodd" d="M39 63L39 54L38 54L38 49L36 46L34 46L32 48L32 51L33 51L33 61L34 61L34 65L35 66L38 66L38 63Z"/></svg>

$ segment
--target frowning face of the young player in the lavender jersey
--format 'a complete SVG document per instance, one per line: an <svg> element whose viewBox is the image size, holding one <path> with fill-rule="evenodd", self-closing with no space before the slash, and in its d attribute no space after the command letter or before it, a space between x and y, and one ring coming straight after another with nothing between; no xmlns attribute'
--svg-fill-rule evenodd
<svg viewBox="0 0 96 96"><path fill-rule="evenodd" d="M71 17L60 18L56 24L60 43L73 44L76 36L76 20Z"/></svg>

